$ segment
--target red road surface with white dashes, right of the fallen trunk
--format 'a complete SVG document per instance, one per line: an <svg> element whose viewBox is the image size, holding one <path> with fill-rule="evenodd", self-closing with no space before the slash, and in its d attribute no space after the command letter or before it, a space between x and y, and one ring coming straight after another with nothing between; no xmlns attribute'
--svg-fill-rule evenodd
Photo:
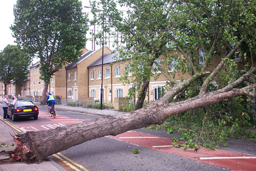
<svg viewBox="0 0 256 171"><path fill-rule="evenodd" d="M199 162L226 167L231 170L256 170L256 156L225 151L222 149L212 150L202 146L200 146L198 152L195 152L194 149L186 149L186 151L184 151L183 148L173 147L173 140L131 131L109 137L119 141L155 149L160 152L177 154Z"/></svg>

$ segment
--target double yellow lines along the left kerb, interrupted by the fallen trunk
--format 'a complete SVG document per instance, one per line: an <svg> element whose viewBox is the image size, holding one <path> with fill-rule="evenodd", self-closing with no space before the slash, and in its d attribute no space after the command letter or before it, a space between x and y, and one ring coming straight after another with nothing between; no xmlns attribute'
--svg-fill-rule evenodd
<svg viewBox="0 0 256 171"><path fill-rule="evenodd" d="M5 121L2 116L0 116L0 120L2 120L5 124L10 126L17 133L22 133L22 132L26 133L26 131L20 130L19 127L12 124L11 122ZM66 164L70 168L74 169L75 171L89 171L86 167L83 167L81 164L74 162L73 160L69 159L68 157L62 155L61 153L54 154L53 156L55 158L57 158L58 160L60 160L63 164Z"/></svg>

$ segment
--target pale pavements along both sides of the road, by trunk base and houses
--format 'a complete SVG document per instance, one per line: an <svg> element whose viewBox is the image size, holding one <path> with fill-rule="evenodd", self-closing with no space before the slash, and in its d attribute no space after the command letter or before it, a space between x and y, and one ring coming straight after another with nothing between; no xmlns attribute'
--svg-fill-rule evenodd
<svg viewBox="0 0 256 171"><path fill-rule="evenodd" d="M37 106L41 106L40 103L35 102ZM42 105L46 106L46 105ZM58 111L72 111L72 112L78 112L78 113L88 113L88 114L94 114L94 115L100 115L100 116L117 116L121 114L125 114L125 112L118 112L114 110L98 110L98 109L88 109L88 108L82 108L82 107L73 107L73 106L67 106L67 105L60 105L56 104L55 109ZM0 117L0 171L7 171L7 170L23 170L23 171L63 171L66 170L59 166L54 161L46 161L39 164L26 164L26 163L12 163L9 156L3 155L1 152L3 151L13 151L13 149L16 147L15 142L13 141L13 136L16 135L16 133L4 123L3 117Z"/></svg>

